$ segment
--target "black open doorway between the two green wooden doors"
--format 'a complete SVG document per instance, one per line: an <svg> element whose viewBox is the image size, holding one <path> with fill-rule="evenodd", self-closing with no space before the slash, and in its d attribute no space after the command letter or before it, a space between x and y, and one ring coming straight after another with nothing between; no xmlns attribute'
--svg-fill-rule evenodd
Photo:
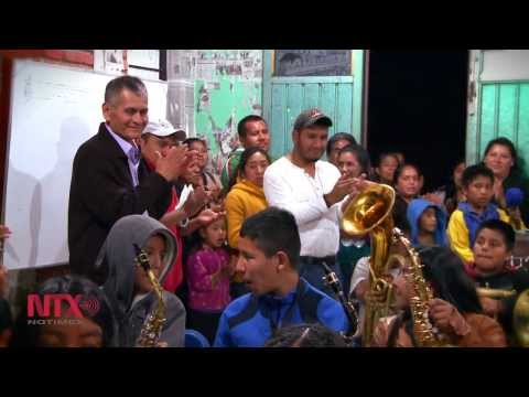
<svg viewBox="0 0 529 397"><path fill-rule="evenodd" d="M467 51L370 51L367 148L401 151L444 184L465 155Z"/></svg>

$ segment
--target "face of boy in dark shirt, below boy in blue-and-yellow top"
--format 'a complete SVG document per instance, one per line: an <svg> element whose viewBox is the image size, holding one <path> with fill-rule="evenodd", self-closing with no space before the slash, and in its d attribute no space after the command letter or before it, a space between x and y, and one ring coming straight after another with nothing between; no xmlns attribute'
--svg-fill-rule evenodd
<svg viewBox="0 0 529 397"><path fill-rule="evenodd" d="M477 234L473 251L476 268L484 272L500 271L511 255L505 244L504 235L488 228Z"/></svg>

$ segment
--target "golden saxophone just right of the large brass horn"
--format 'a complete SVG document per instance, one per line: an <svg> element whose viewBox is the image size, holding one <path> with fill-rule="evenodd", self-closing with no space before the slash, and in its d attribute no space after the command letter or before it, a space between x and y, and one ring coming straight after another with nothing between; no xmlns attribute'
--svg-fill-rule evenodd
<svg viewBox="0 0 529 397"><path fill-rule="evenodd" d="M393 228L393 239L404 246L410 257L409 267L406 269L406 277L413 288L413 297L410 299L410 310L413 321L413 335L415 336L418 347L447 346L444 336L433 328L429 319L428 302L433 299L433 293L422 273L423 265L421 264L419 254L411 247L410 242L397 227Z"/></svg>

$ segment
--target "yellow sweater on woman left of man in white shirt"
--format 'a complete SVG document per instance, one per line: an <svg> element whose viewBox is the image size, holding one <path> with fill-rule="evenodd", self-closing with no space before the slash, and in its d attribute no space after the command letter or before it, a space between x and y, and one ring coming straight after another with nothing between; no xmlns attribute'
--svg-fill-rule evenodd
<svg viewBox="0 0 529 397"><path fill-rule="evenodd" d="M228 218L228 244L237 249L240 227L245 219L268 207L264 191L249 181L239 180L226 196L225 207Z"/></svg>

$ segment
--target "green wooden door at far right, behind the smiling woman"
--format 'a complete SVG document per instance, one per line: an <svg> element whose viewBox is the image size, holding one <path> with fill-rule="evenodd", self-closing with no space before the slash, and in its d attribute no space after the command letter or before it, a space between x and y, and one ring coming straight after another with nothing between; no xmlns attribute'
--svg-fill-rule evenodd
<svg viewBox="0 0 529 397"><path fill-rule="evenodd" d="M489 140L506 137L529 172L529 51L473 50L469 65L467 163L483 159Z"/></svg>

